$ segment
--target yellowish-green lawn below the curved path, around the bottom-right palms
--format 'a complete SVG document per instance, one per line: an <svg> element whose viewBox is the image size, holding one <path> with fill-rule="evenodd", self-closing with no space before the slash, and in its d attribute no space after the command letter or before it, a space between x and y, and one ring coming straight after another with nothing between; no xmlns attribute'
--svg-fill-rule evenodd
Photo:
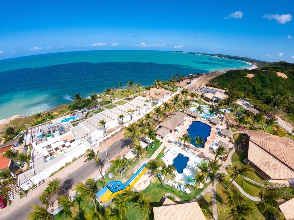
<svg viewBox="0 0 294 220"><path fill-rule="evenodd" d="M235 189L236 192L238 193L239 199L245 199L246 204L250 205L250 206L254 206L257 204L257 202L253 202L250 199L244 197L236 187L234 187L233 185L231 185L229 187L230 190ZM216 203L217 203L217 209L218 209L218 219L219 220L225 220L229 214L228 214L228 210L226 209L228 207L227 204L227 191L225 190L225 188L223 187L223 185L221 185L219 182L216 185ZM250 216L247 217L248 220L269 220L269 214L265 213L264 215L260 213L260 211L258 209L256 209L254 211L254 214L251 214Z"/></svg>

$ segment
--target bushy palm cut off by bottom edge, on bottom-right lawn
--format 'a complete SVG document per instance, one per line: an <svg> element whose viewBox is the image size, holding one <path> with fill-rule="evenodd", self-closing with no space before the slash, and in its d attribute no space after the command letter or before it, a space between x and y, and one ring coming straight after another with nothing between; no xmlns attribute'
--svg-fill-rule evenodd
<svg viewBox="0 0 294 220"><path fill-rule="evenodd" d="M234 201L229 207L226 208L230 216L225 220L228 220L231 217L236 220L246 219L246 217L254 213L255 209L255 206L246 204L245 200Z"/></svg>

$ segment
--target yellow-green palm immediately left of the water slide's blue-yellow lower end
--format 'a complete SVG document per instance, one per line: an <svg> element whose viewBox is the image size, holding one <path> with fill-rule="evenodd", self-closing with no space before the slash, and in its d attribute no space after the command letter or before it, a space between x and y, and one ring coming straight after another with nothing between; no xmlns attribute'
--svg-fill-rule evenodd
<svg viewBox="0 0 294 220"><path fill-rule="evenodd" d="M86 181L86 185L84 185L81 182L78 182L75 190L78 193L77 197L84 199L85 201L85 208L87 207L87 204L92 201L94 203L94 206L96 207L96 191L98 187L96 182L94 182L92 179L88 179Z"/></svg>

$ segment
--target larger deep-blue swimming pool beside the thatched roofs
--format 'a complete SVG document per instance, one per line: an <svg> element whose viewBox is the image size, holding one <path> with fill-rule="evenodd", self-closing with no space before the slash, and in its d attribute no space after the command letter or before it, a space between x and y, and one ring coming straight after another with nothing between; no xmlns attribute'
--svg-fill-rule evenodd
<svg viewBox="0 0 294 220"><path fill-rule="evenodd" d="M195 147L195 139L194 137L202 137L203 138L203 143L207 141L207 137L210 135L211 131L211 126L202 123L200 121L193 121L190 127L187 129L188 134L190 135L191 138L193 138L191 144L193 144ZM204 148L204 145L200 145L199 147Z"/></svg>

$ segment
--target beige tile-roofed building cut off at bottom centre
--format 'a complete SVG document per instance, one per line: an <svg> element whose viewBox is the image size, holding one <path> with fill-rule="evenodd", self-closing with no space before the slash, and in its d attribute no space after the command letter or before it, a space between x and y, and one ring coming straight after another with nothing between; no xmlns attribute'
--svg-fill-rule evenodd
<svg viewBox="0 0 294 220"><path fill-rule="evenodd" d="M177 204L163 197L160 207L153 207L154 220L206 220L198 202Z"/></svg>

